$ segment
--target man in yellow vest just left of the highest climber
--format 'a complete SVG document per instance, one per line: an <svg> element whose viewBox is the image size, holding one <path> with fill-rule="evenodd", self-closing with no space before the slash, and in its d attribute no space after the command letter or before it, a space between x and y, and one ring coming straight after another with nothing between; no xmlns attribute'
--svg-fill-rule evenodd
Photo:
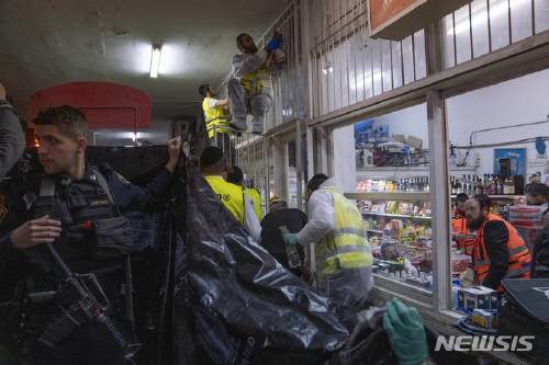
<svg viewBox="0 0 549 365"><path fill-rule="evenodd" d="M215 90L209 83L201 84L199 93L204 98L202 110L204 112L208 138L210 138L212 146L220 147L226 152L231 147L226 113L228 99L215 99Z"/></svg>

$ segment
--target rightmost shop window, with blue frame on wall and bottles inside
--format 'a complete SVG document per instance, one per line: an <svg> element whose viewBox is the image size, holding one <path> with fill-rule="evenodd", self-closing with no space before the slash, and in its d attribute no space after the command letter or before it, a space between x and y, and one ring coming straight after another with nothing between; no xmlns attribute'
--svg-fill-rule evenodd
<svg viewBox="0 0 549 365"><path fill-rule="evenodd" d="M455 210L458 194L488 195L491 213L509 223L530 252L547 209L542 201L528 205L527 190L531 182L549 185L548 93L549 70L545 70L447 100ZM459 214L451 217L453 292L471 278L467 269L473 267L471 255L480 232ZM461 305L455 296L452 306Z"/></svg>

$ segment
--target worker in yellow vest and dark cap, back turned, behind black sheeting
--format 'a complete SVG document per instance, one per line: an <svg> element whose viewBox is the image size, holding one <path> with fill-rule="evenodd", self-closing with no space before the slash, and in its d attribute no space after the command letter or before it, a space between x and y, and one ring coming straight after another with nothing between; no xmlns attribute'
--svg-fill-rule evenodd
<svg viewBox="0 0 549 365"><path fill-rule="evenodd" d="M200 156L200 172L221 203L248 231L251 238L259 242L261 225L254 212L249 197L242 186L227 182L227 160L221 148L206 147Z"/></svg>

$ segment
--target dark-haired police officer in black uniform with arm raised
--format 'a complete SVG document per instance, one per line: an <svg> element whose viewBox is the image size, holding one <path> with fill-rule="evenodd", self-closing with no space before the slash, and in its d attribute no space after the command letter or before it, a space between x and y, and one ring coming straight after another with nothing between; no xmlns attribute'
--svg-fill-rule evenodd
<svg viewBox="0 0 549 365"><path fill-rule="evenodd" d="M168 162L153 182L141 187L109 168L100 170L86 163L87 122L80 110L68 105L47 109L34 124L38 160L45 173L21 193L14 210L9 213L9 224L0 231L0 263L22 283L18 292L22 288L23 295L16 299L27 303L20 308L22 317L14 319L23 333L18 337L16 346L30 349L25 356L35 364L126 364L119 343L91 320L54 349L37 341L59 317L57 297L44 303L27 299L32 293L56 290L59 285L55 266L40 254L40 247L54 243L70 270L94 273L110 301L108 315L132 339L128 322L132 304L127 300L131 295L125 293L131 292L131 283L124 280L123 263L134 242L122 214L144 210L161 202L172 180L181 141L179 138L168 141ZM44 186L53 187L51 213L36 217ZM18 263L15 267L9 266L12 262ZM3 309L0 306L0 311ZM0 317L5 315L0 312ZM15 333L13 328L8 331Z"/></svg>

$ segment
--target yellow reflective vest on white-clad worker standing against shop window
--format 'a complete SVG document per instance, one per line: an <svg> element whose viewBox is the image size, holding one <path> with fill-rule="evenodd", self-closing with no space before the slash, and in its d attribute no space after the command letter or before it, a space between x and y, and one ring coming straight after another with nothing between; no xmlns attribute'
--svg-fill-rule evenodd
<svg viewBox="0 0 549 365"><path fill-rule="evenodd" d="M373 263L362 216L343 194L321 187L334 197L335 229L316 244L315 258L320 277L345 269L369 267Z"/></svg>

